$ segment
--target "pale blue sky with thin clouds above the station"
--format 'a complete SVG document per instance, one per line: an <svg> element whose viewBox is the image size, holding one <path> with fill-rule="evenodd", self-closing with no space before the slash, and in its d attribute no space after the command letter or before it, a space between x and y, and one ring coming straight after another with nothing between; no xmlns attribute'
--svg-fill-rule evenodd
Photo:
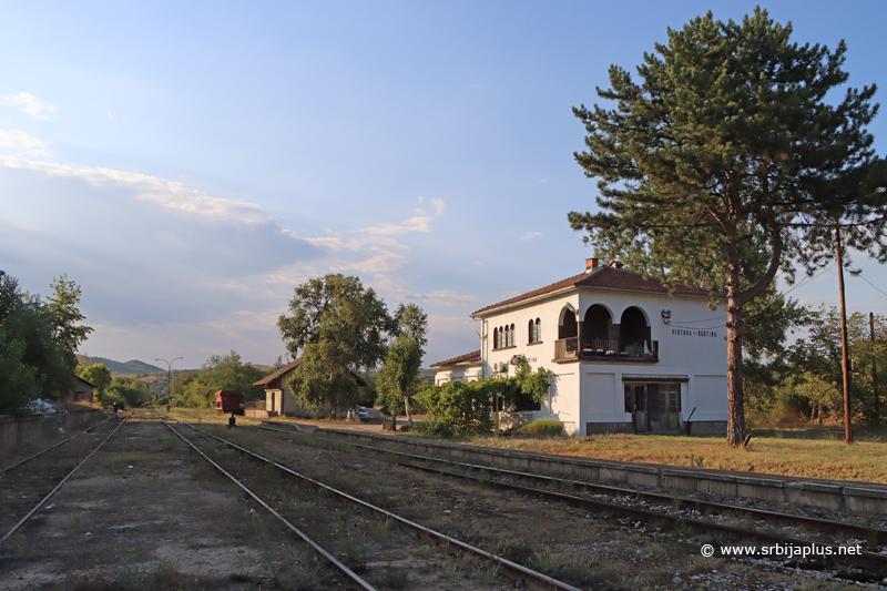
<svg viewBox="0 0 887 591"><path fill-rule="evenodd" d="M424 365L468 353L471 312L594 254L567 222L598 194L571 108L667 28L754 7L6 0L0 269L43 295L67 274L80 351L116 360L271 364L294 287L328 273L422 307ZM848 84L884 100L887 3L764 8L844 39ZM887 154L887 114L869 130ZM855 262L848 310L887 315L887 267ZM791 295L837 305L834 269Z"/></svg>

